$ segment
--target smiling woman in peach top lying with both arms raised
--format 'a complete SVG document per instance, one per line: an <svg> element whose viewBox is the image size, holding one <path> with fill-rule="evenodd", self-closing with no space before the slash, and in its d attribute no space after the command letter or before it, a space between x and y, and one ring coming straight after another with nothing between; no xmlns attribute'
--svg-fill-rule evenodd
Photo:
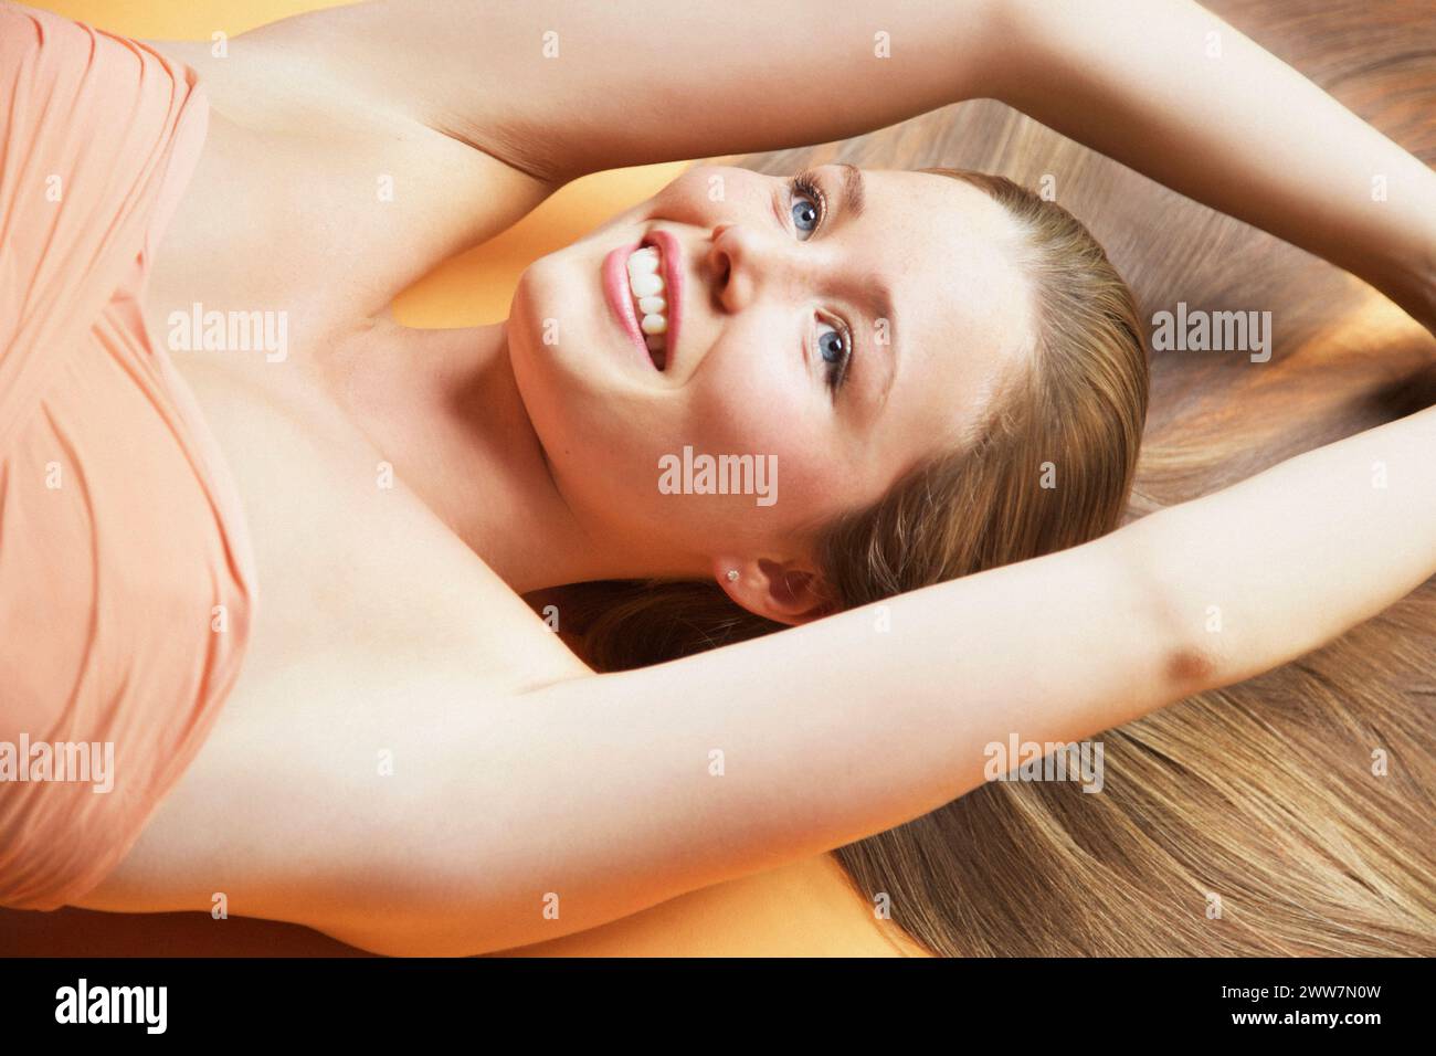
<svg viewBox="0 0 1436 1056"><path fill-rule="evenodd" d="M510 948L890 829L992 743L1436 572L1430 411L1113 530L1144 328L1064 210L975 174L696 168L504 325L388 319L583 172L991 96L1436 320L1436 177L1202 9L949 7L378 3L221 57L6 6L4 733L113 743L118 795L7 790L0 902ZM151 348L210 312L283 339ZM669 494L689 448L777 500ZM574 608L599 667L673 657L622 672L520 598L636 579Z"/></svg>

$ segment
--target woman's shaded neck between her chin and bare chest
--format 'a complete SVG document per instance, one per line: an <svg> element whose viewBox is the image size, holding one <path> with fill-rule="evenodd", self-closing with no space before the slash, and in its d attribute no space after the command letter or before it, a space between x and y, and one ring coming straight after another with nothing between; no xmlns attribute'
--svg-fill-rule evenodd
<svg viewBox="0 0 1436 1056"><path fill-rule="evenodd" d="M385 323L343 385L395 477L517 593L638 576L636 555L580 524L550 473L508 359L507 325Z"/></svg>

